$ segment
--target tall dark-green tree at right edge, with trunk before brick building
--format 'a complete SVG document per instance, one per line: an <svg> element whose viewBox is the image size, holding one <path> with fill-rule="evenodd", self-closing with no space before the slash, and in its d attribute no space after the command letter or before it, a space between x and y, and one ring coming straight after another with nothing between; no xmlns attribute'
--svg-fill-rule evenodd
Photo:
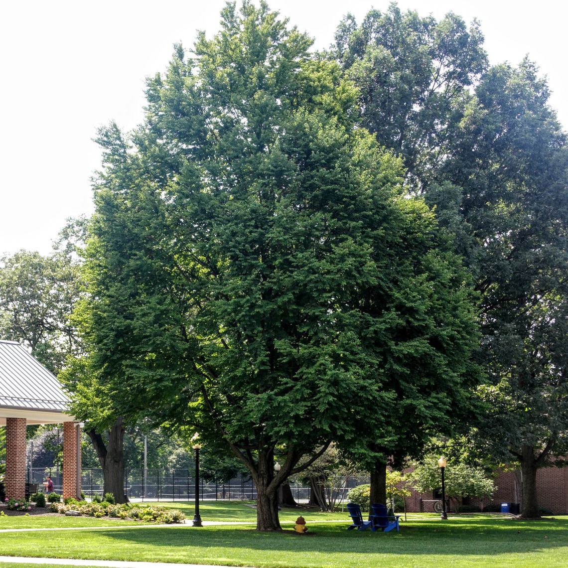
<svg viewBox="0 0 568 568"><path fill-rule="evenodd" d="M487 411L475 434L496 460L520 463L524 517L539 515L538 467L568 449L568 153L548 96L528 60L488 70L459 152L440 174L458 188L446 185L475 243L467 261L491 379L479 393ZM456 197L435 187L428 198L448 211Z"/></svg>

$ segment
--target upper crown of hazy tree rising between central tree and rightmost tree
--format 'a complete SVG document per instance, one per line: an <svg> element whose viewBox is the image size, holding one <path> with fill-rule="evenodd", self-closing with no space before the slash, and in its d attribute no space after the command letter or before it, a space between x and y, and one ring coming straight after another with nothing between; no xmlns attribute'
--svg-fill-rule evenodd
<svg viewBox="0 0 568 568"><path fill-rule="evenodd" d="M437 22L391 3L370 10L358 26L348 15L337 28L332 56L360 92L362 124L407 168L407 186L424 190L456 141L487 68L483 35L450 12Z"/></svg>

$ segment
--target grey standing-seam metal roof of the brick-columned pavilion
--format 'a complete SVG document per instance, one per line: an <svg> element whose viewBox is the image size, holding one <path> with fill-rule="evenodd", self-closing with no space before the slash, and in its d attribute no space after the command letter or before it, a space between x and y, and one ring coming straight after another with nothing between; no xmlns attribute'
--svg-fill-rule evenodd
<svg viewBox="0 0 568 568"><path fill-rule="evenodd" d="M0 340L0 408L65 412L68 407L53 373L16 341Z"/></svg>

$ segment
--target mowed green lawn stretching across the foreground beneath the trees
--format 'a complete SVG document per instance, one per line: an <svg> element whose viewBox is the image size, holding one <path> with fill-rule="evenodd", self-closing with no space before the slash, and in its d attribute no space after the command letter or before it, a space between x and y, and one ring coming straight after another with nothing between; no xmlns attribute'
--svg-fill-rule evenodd
<svg viewBox="0 0 568 568"><path fill-rule="evenodd" d="M204 504L201 516L204 520L248 521L247 509L254 520L254 509L233 503ZM193 508L188 511L193 517ZM259 533L247 525L128 528L113 524L115 528L110 529L49 534L0 533L0 554L288 568L568 565L568 517L519 521L463 515L441 521L437 516L409 516L399 533L371 533L346 531L345 523L329 522L325 513L302 514L311 534L295 534L290 525L284 525L286 530L281 533ZM281 519L297 516L297 510L285 510ZM339 513L339 518L346 519L346 515ZM40 521L41 517L27 519Z"/></svg>

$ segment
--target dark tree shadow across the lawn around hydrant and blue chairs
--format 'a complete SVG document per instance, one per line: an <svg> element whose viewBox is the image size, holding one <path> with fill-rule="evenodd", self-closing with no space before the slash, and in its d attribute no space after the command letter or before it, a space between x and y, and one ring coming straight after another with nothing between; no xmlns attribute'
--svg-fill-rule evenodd
<svg viewBox="0 0 568 568"><path fill-rule="evenodd" d="M346 531L345 525L318 525L310 527L311 538L288 531L262 533L235 527L156 528L133 531L113 529L105 531L107 538L123 540L132 545L168 547L243 548L272 550L297 554L400 554L400 555L471 555L512 554L537 552L568 546L567 521L513 521L508 519L458 520L454 523L439 520L406 523L399 533Z"/></svg>

